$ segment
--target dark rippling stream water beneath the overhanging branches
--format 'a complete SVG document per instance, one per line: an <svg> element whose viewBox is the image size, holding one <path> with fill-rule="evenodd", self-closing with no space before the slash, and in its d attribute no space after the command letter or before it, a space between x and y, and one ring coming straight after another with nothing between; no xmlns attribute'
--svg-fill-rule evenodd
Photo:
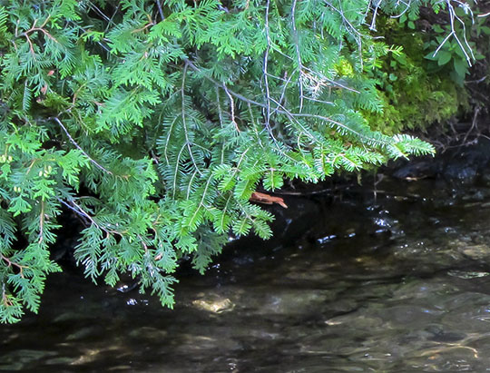
<svg viewBox="0 0 490 373"><path fill-rule="evenodd" d="M490 371L490 187L378 188L326 204L301 240L182 279L173 311L55 275L39 315L0 327L0 369Z"/></svg>

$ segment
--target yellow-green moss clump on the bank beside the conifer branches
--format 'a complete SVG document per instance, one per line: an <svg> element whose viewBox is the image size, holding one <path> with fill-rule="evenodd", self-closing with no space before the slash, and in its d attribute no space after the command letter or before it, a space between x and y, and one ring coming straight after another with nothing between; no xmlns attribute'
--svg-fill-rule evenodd
<svg viewBox="0 0 490 373"><path fill-rule="evenodd" d="M372 128L384 133L425 130L443 123L467 106L467 94L446 71L435 69L424 58L426 33L414 34L397 19L380 18L379 34L387 43L404 45L390 48L382 58L382 69L369 73L377 81L383 113L366 113ZM441 52L436 54L441 56ZM463 64L467 64L463 61Z"/></svg>

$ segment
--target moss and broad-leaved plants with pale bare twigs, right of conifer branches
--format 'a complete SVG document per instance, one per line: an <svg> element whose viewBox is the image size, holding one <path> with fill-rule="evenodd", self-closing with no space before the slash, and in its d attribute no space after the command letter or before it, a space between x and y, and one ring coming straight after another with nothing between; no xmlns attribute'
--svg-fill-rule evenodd
<svg viewBox="0 0 490 373"><path fill-rule="evenodd" d="M481 3L448 4L451 9L444 8L432 25L418 19L416 8L378 17L377 36L393 46L382 57L381 69L368 72L384 106L383 113L365 113L371 128L387 134L425 131L469 112L464 83L471 64L488 54L488 17L478 8Z"/></svg>

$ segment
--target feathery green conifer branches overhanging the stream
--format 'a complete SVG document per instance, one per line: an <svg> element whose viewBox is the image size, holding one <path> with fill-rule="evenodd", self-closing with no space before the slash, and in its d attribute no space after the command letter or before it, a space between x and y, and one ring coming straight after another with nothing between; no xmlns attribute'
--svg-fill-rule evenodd
<svg viewBox="0 0 490 373"><path fill-rule="evenodd" d="M270 237L271 214L249 201L260 185L433 152L363 116L382 111L368 73L389 49L369 36L371 3L4 2L2 321L36 311L59 270L62 209L85 224L87 276L127 272L171 307L180 260L203 271L230 232Z"/></svg>

